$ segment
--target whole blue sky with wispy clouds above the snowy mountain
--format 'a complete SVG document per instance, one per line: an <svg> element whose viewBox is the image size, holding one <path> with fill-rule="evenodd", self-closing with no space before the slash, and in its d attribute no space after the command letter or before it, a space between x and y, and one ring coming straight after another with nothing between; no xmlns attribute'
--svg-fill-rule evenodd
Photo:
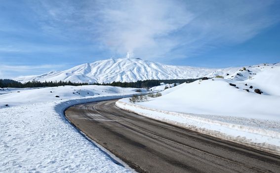
<svg viewBox="0 0 280 173"><path fill-rule="evenodd" d="M279 0L0 0L0 78L134 57L280 62Z"/></svg>

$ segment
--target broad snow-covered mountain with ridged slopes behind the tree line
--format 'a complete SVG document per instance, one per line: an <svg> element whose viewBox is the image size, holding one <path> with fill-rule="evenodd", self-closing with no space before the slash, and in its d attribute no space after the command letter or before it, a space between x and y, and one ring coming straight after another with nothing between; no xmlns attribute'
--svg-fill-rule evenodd
<svg viewBox="0 0 280 173"><path fill-rule="evenodd" d="M25 83L36 80L71 81L75 83L112 83L136 82L151 79L190 79L214 77L236 72L240 68L212 69L189 66L165 65L139 58L107 59L93 63L81 64L65 71L48 72L39 76L18 77L15 80Z"/></svg>

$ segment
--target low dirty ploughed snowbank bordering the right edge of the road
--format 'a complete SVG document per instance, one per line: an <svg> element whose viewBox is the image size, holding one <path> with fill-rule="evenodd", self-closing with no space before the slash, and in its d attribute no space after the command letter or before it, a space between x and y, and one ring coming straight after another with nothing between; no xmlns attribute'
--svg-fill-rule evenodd
<svg viewBox="0 0 280 173"><path fill-rule="evenodd" d="M238 124L246 121L244 118L231 117L228 120L233 119L233 121L226 122L217 120L217 117L203 118L204 115L163 111L130 103L128 98L120 99L116 102L116 106L158 121L280 155L279 129L264 129L271 127L271 124L259 127L263 122L247 119L248 124ZM255 122L259 124L256 125ZM279 122L274 122L274 125L279 126Z"/></svg>

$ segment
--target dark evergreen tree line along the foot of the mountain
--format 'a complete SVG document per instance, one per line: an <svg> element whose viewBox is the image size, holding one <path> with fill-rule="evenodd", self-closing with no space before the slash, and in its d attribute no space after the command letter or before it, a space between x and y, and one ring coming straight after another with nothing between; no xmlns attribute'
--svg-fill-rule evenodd
<svg viewBox="0 0 280 173"><path fill-rule="evenodd" d="M59 86L83 86L83 85L99 85L99 86L113 86L113 87L135 87L135 88L150 88L150 87L156 87L159 86L160 83L165 83L165 84L173 84L173 83L191 83L196 80L200 80L201 78L198 79L172 79L172 80L145 80L145 81L137 81L137 82L112 82L108 84L100 84L100 83L93 83L93 84L88 84L88 83L72 83L70 81L68 82L63 82L63 81L55 81L55 82L39 82L39 81L31 81L27 83L20 83L11 79L0 79L0 87L19 87L19 88L24 88L24 87L59 87Z"/></svg>

